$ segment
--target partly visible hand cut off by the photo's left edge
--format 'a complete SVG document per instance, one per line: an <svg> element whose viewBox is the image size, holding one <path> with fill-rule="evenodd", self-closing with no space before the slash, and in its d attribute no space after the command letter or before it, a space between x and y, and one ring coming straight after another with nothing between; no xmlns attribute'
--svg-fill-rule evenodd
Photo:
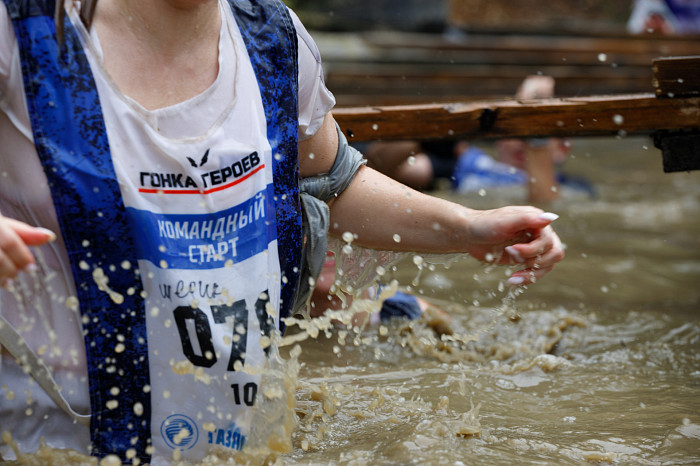
<svg viewBox="0 0 700 466"><path fill-rule="evenodd" d="M35 267L29 246L41 246L54 239L56 235L50 230L0 215L0 286L22 270Z"/></svg>

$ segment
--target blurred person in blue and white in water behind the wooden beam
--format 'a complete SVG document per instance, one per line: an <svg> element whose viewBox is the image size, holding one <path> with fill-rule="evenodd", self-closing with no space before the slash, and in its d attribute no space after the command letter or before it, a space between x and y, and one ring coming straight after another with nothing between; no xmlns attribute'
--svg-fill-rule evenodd
<svg viewBox="0 0 700 466"><path fill-rule="evenodd" d="M551 76L528 76L515 98L550 98L554 84ZM494 159L467 141L398 141L371 143L365 156L368 166L419 190L432 189L438 178L445 178L460 193L527 185L528 202L538 204L557 199L560 185L592 194L585 180L557 172L571 152L567 140L502 139L496 152Z"/></svg>

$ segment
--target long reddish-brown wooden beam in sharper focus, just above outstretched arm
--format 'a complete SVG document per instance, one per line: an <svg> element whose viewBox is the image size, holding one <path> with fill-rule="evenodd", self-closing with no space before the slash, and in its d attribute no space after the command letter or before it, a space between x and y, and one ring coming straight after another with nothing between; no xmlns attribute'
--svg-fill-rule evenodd
<svg viewBox="0 0 700 466"><path fill-rule="evenodd" d="M653 134L700 128L700 97L653 94L337 108L350 142Z"/></svg>

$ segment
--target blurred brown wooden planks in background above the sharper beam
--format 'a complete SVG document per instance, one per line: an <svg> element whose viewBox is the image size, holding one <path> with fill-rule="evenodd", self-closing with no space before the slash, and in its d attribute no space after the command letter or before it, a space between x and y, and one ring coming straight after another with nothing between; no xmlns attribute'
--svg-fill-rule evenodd
<svg viewBox="0 0 700 466"><path fill-rule="evenodd" d="M529 74L562 97L654 92L652 60L700 55L698 38L313 33L339 105L502 98Z"/></svg>

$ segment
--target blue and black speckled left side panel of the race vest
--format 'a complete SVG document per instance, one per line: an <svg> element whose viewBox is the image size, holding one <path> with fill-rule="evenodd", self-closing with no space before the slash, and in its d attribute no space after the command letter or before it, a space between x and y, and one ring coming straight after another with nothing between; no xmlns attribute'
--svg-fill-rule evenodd
<svg viewBox="0 0 700 466"><path fill-rule="evenodd" d="M43 15L37 8L20 7L19 0L5 3L20 48L34 143L48 178L83 316L92 454L118 454L130 462L126 451L133 449L148 462L151 400L143 390L150 376L142 285L92 72L67 17L65 49L59 52L53 2L42 3L48 10ZM30 16L18 17L21 13ZM125 260L131 269L121 266ZM81 267L81 261L89 267ZM109 277L110 288L135 292L115 305L95 286L93 272L98 268ZM124 349L115 351L117 347ZM134 415L136 403L143 407L140 417Z"/></svg>

